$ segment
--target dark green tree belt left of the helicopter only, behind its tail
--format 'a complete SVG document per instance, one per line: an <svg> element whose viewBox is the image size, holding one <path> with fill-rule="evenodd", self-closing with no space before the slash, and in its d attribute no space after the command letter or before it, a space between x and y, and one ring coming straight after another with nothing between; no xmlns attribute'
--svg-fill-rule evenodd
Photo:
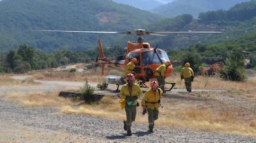
<svg viewBox="0 0 256 143"><path fill-rule="evenodd" d="M107 48L105 54L109 56L124 54L121 47ZM90 63L96 60L98 49L84 51L70 51L62 49L45 54L35 47L21 44L17 50L10 50L0 55L0 72L2 73L26 73L31 70L56 68L71 63Z"/></svg>

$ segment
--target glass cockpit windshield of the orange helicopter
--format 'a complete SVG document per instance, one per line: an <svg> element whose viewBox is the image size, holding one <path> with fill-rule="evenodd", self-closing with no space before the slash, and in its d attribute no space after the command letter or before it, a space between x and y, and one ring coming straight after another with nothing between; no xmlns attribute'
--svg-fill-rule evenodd
<svg viewBox="0 0 256 143"><path fill-rule="evenodd" d="M164 51L147 51L142 53L142 65L150 65L153 63L164 63L169 60L168 55Z"/></svg>

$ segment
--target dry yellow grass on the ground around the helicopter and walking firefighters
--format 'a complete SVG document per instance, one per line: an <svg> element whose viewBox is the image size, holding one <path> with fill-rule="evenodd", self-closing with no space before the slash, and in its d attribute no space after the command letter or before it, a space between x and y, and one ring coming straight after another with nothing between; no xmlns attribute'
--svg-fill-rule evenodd
<svg viewBox="0 0 256 143"><path fill-rule="evenodd" d="M111 71L117 75L118 70ZM82 73L69 73L65 71L43 71L33 73L33 77L43 80L102 82L105 76L99 76L101 69L88 70ZM109 73L109 75L113 74ZM90 76L88 76L90 75ZM3 76L3 77L2 77ZM0 84L15 83L8 80L9 76L1 75ZM179 74L174 74L166 81L176 82L175 88L184 89L184 81L179 79ZM27 84L30 84L28 81ZM256 80L246 82L223 81L218 78L196 76L192 83L193 89L227 89L227 92L168 92L161 100L164 105L160 108L160 118L156 120L159 126L169 128L206 129L208 131L239 134L242 136L256 137ZM19 102L30 107L50 106L59 108L61 113L88 114L103 116L113 120L124 120L124 110L119 106L117 96L105 96L100 104L85 105L80 102L71 102L58 97L59 91L51 93L11 93L6 95L8 100ZM147 123L147 115L142 115L142 108L137 108L136 122Z"/></svg>

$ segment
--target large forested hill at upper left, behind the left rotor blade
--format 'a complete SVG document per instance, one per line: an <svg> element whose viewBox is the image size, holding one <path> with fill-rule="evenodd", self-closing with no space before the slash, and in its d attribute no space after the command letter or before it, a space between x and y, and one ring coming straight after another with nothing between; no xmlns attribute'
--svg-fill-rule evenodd
<svg viewBox="0 0 256 143"><path fill-rule="evenodd" d="M127 31L163 19L145 10L106 0L7 0L0 1L0 11L2 52L17 49L23 43L45 52L59 48L90 49L95 47L97 38L114 41L118 36L38 30Z"/></svg>

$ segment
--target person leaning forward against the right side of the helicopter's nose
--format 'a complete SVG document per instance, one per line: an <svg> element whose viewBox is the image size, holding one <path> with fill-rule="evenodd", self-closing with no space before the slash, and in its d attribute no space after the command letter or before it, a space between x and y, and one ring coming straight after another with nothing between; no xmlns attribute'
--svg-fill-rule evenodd
<svg viewBox="0 0 256 143"><path fill-rule="evenodd" d="M160 88L162 89L163 92L166 92L164 91L164 83L165 83L164 72L166 71L166 68L168 68L169 65L171 65L171 62L168 60L164 62L162 65L160 65L158 68L156 68L156 72L155 72L156 80L160 84Z"/></svg>

